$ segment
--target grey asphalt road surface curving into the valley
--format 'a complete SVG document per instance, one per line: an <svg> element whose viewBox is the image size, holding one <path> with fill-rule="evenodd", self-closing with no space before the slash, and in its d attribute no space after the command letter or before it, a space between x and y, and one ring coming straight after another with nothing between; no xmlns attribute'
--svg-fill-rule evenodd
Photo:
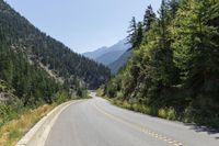
<svg viewBox="0 0 219 146"><path fill-rule="evenodd" d="M219 133L152 117L93 99L67 108L46 146L219 146Z"/></svg>

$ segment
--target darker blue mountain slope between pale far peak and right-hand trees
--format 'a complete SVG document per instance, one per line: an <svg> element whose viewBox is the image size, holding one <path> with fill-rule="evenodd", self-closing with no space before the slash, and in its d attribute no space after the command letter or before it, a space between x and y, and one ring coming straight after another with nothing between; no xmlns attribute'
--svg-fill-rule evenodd
<svg viewBox="0 0 219 146"><path fill-rule="evenodd" d="M132 49L128 49L118 59L116 59L114 63L108 65L108 68L111 69L112 74L117 74L119 69L125 67L125 65L128 61L128 58L131 56Z"/></svg>

